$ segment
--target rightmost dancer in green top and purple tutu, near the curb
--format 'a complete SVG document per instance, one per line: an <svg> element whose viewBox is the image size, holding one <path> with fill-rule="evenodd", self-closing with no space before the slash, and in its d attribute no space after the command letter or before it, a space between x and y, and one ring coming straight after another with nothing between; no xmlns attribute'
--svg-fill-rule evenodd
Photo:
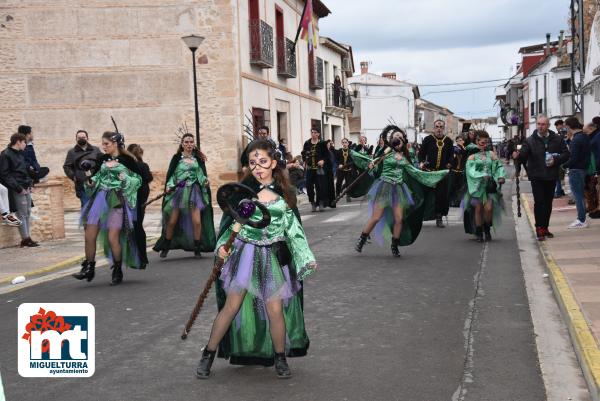
<svg viewBox="0 0 600 401"><path fill-rule="evenodd" d="M468 192L463 200L465 232L475 234L477 241L491 241L491 228L498 227L504 210L499 186L506 173L496 153L487 150L490 136L477 131L475 142L479 153L469 156L466 164Z"/></svg>

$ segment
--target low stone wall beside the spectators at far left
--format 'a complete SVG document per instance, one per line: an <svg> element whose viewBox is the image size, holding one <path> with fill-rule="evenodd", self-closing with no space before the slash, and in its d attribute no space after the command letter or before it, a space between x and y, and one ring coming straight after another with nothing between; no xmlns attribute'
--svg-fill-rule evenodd
<svg viewBox="0 0 600 401"><path fill-rule="evenodd" d="M36 185L32 198L34 213L39 220L32 221L31 237L35 241L65 238L62 182L51 180ZM17 227L0 226L0 248L16 246L20 242Z"/></svg>

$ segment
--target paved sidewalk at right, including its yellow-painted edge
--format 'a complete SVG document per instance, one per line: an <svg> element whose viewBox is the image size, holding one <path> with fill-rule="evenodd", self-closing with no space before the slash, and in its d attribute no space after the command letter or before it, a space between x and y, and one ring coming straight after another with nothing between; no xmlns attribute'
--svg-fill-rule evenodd
<svg viewBox="0 0 600 401"><path fill-rule="evenodd" d="M533 228L533 196L522 197ZM554 200L550 231L555 238L538 244L590 393L600 400L600 220L588 218L589 228L568 230L577 212L567 202L566 196Z"/></svg>

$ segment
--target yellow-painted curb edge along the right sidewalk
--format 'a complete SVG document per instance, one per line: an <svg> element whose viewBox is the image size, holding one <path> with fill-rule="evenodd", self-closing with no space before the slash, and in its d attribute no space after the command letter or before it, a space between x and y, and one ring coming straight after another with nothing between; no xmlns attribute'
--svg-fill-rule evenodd
<svg viewBox="0 0 600 401"><path fill-rule="evenodd" d="M535 230L535 222L529 209L529 201L525 197L523 197L523 204L529 223ZM577 359L579 359L590 395L594 401L600 401L600 349L596 339L583 316L565 275L548 252L546 244L538 241L538 247L546 263L550 284L563 318L567 323L571 342L575 348Z"/></svg>

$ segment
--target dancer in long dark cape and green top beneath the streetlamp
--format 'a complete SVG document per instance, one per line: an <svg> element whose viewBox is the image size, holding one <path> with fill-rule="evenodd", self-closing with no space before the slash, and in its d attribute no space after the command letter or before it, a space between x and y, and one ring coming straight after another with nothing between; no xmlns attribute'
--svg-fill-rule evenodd
<svg viewBox="0 0 600 401"><path fill-rule="evenodd" d="M163 199L162 233L154 250L166 258L172 249L201 252L215 249L215 229L211 193L206 176L205 156L198 150L194 136L181 137L179 150L171 158Z"/></svg>

